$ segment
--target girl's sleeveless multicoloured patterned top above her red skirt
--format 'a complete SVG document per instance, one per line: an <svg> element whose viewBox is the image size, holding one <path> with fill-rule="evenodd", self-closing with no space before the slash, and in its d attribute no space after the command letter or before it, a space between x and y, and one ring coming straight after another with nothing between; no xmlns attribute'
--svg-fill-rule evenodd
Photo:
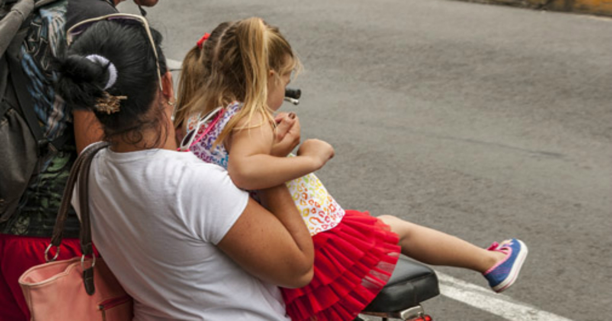
<svg viewBox="0 0 612 321"><path fill-rule="evenodd" d="M214 163L227 169L229 154L223 144L212 148L217 137L225 125L242 107L240 103L228 105L225 109L218 109L212 117L192 116L187 120L187 135L191 131L192 141L188 142L183 150L190 150L201 160ZM194 131L195 130L195 131ZM289 157L292 157L290 155ZM345 210L338 205L334 197L327 192L321 180L315 174L307 174L286 183L289 193L293 197L297 210L310 235L327 231L337 226L345 215Z"/></svg>

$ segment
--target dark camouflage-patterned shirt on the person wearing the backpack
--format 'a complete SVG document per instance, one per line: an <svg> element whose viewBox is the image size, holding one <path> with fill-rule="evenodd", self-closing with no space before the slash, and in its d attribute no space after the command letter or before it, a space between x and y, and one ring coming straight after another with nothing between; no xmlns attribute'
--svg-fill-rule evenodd
<svg viewBox="0 0 612 321"><path fill-rule="evenodd" d="M34 97L34 109L43 133L50 140L58 138L65 131L72 131L72 113L54 92L56 75L51 67L53 57L65 48L67 4L68 0L60 0L41 7L21 46L21 64L30 81L28 91ZM64 185L75 159L74 139L70 139L60 152L43 164L39 175L32 178L21 197L17 214L0 224L0 232L51 236ZM64 236L78 237L78 219L73 210Z"/></svg>

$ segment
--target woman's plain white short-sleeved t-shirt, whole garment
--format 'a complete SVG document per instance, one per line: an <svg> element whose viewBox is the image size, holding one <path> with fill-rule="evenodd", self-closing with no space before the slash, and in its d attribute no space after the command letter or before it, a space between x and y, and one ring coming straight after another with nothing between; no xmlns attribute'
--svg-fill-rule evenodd
<svg viewBox="0 0 612 321"><path fill-rule="evenodd" d="M101 150L89 172L92 238L135 299L135 321L289 320L278 287L215 246L247 205L192 153ZM73 205L78 212L78 196Z"/></svg>

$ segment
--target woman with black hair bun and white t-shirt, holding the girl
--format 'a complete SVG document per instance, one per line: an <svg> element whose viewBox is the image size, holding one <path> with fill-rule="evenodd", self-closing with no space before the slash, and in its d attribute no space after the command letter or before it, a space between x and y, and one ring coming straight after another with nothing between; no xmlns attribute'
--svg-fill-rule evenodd
<svg viewBox="0 0 612 321"><path fill-rule="evenodd" d="M277 286L310 282L313 245L286 187L261 193L273 214L219 166L176 152L171 74L143 18L83 21L68 39L58 90L110 142L89 172L92 238L134 320L288 320Z"/></svg>

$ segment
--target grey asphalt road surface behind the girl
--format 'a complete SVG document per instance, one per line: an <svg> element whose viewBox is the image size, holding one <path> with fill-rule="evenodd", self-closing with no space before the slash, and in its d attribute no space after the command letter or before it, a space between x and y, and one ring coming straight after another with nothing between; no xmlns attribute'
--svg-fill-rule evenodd
<svg viewBox="0 0 612 321"><path fill-rule="evenodd" d="M130 1L131 2L131 1ZM132 11L125 2L121 10ZM345 208L530 255L507 295L574 320L612 315L612 20L445 0L161 0L181 60L218 23L280 26L305 72L304 138ZM436 268L479 286L482 276ZM502 320L441 296L436 320Z"/></svg>

